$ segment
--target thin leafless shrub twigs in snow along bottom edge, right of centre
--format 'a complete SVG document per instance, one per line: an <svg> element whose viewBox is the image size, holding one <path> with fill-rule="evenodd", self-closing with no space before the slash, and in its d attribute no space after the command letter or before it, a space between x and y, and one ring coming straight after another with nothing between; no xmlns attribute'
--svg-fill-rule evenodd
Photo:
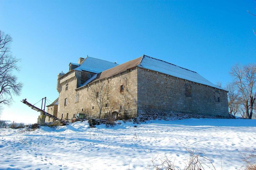
<svg viewBox="0 0 256 170"><path fill-rule="evenodd" d="M211 159L204 156L205 153L199 152L198 150L191 150L190 148L186 148L186 150L188 151L190 156L187 160L188 163L186 164L185 168L183 168L183 170L204 170L205 168L216 170L212 164ZM178 166L175 166L175 158L169 159L166 156L163 158L158 158L158 160L160 161L159 164L156 163L156 158L152 158L152 164L148 165L148 168L153 168L156 170L181 170ZM211 166L206 165L206 163L210 164Z"/></svg>

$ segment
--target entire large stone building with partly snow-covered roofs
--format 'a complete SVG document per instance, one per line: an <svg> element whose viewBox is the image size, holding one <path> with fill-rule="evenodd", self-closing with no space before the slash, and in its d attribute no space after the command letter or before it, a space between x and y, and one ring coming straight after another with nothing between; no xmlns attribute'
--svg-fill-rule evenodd
<svg viewBox="0 0 256 170"><path fill-rule="evenodd" d="M194 71L146 55L121 65L92 57L70 63L68 73L57 79L57 117L71 120L85 113L97 118L99 107L90 93L99 81L111 87L101 118L106 113L136 117L139 110L228 117L226 90Z"/></svg>

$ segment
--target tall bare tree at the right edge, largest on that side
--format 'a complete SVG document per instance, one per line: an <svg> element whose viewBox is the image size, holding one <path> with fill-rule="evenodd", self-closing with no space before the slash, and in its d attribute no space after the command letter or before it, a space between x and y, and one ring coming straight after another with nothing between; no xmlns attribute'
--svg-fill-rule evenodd
<svg viewBox="0 0 256 170"><path fill-rule="evenodd" d="M256 65L235 65L231 68L230 75L233 77L233 85L241 94L245 117L252 119L253 105L256 97Z"/></svg>

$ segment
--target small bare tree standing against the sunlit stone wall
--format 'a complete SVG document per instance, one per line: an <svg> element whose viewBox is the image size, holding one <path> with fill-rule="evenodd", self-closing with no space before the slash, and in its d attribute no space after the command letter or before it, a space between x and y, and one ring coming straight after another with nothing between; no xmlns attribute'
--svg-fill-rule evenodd
<svg viewBox="0 0 256 170"><path fill-rule="evenodd" d="M108 102L108 94L110 92L110 85L108 81L98 81L90 86L89 98L97 104L99 108L98 118L101 118L103 104Z"/></svg>

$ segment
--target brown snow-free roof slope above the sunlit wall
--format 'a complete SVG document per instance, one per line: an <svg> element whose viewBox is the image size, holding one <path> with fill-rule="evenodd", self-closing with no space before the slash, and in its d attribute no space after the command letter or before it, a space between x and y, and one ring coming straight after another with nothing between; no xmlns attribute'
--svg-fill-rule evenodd
<svg viewBox="0 0 256 170"><path fill-rule="evenodd" d="M138 66L140 64L141 58L142 57L136 58L136 59L131 60L131 61L127 61L124 64L120 64L118 66L115 66L113 68L105 70L105 71L103 71L101 73L98 73L96 79L94 79L93 81L104 79L104 78L110 77L112 75L115 75L115 74L118 74L118 73L122 73L125 70L134 68L134 67L136 67L136 66Z"/></svg>

